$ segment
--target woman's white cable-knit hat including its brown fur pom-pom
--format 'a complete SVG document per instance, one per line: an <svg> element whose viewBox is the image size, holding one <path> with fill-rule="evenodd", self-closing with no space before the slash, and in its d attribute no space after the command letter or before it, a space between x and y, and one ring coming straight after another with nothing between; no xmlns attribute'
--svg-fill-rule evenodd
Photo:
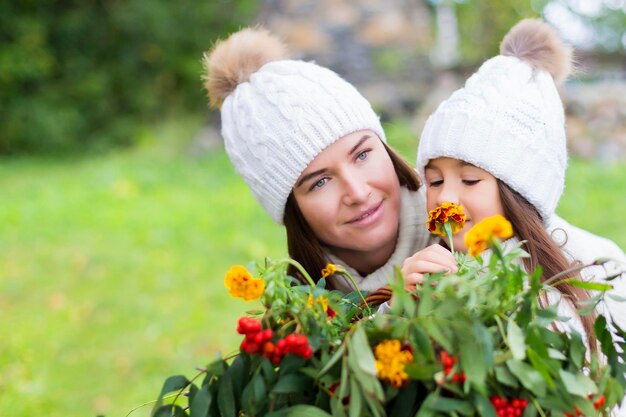
<svg viewBox="0 0 626 417"><path fill-rule="evenodd" d="M282 43L268 32L244 29L205 57L226 152L277 223L297 179L326 147L364 129L386 140L370 103L351 84L282 55Z"/></svg>

